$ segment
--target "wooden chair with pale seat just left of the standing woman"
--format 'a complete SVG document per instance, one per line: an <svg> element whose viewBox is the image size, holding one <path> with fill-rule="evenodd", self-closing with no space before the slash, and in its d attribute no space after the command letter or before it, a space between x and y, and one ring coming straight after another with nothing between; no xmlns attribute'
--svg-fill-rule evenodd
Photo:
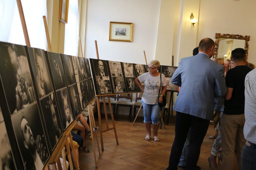
<svg viewBox="0 0 256 170"><path fill-rule="evenodd" d="M122 100L121 98L128 98L128 99L130 99L130 101ZM117 115L118 115L118 107L130 107L129 119L130 119L130 122L132 121L132 110L133 110L132 99L133 99L133 94L132 93L117 95L117 110L116 110L116 114L115 114L115 120L116 121L117 121Z"/></svg>

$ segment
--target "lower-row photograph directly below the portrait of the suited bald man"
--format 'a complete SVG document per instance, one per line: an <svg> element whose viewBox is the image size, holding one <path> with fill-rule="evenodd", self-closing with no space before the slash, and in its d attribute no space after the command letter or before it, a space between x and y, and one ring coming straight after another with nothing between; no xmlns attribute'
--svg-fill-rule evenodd
<svg viewBox="0 0 256 170"><path fill-rule="evenodd" d="M96 76L98 94L112 93L109 77Z"/></svg>

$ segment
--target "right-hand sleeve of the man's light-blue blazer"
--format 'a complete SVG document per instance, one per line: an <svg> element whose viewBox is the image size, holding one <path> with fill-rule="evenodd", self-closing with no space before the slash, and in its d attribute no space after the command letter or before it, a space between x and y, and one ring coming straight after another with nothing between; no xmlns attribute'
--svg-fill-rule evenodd
<svg viewBox="0 0 256 170"><path fill-rule="evenodd" d="M227 87L224 79L224 67L219 69L216 84L215 84L215 97L224 97L227 93Z"/></svg>

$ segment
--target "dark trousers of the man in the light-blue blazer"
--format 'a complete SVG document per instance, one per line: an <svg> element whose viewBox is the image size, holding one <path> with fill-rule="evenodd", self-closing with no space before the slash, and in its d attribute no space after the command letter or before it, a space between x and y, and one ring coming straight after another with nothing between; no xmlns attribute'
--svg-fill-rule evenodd
<svg viewBox="0 0 256 170"><path fill-rule="evenodd" d="M209 120L189 114L177 112L175 122L175 138L166 170L177 170L182 148L190 129L190 141L187 154L186 170L194 170L200 155L200 148L209 127Z"/></svg>

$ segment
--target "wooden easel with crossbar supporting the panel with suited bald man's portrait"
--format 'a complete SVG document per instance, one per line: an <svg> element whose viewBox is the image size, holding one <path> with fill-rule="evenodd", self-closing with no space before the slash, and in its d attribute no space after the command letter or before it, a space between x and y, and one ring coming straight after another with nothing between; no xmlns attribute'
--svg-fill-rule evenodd
<svg viewBox="0 0 256 170"><path fill-rule="evenodd" d="M97 41L96 41L96 40L95 40L95 46L96 46L97 59L99 59L98 45L97 45ZM100 102L99 102L99 98L100 98L101 96L103 96L102 100L103 100L103 106L104 106L104 112L105 112L105 120L106 120L106 125L107 125L107 129L104 129L104 130L102 130L101 114L100 114ZM108 96L108 105L109 105L110 115L111 115L112 124L113 124L113 127L112 127L112 128L109 128L109 125L108 125L108 116L107 116L107 108L106 108L105 96ZM113 116L113 111L112 111L111 101L110 101L109 95L108 95L108 94L107 94L107 95L96 95L96 102L95 102L95 105L94 105L94 108L93 108L93 112L94 112L94 110L95 110L95 106L96 106L96 105L97 105L98 117L99 117L101 151L104 151L103 135L102 135L102 133L104 133L104 132L107 132L107 131L109 131L109 130L114 130L117 145L119 144L119 143L118 143L117 131L116 131L116 126L115 126L115 122L114 122L114 116Z"/></svg>

